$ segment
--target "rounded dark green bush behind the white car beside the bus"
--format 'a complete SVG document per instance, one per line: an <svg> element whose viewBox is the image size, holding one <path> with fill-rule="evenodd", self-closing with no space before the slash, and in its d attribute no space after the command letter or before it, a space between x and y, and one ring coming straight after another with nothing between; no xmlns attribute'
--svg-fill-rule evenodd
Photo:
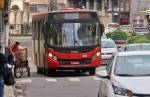
<svg viewBox="0 0 150 97"><path fill-rule="evenodd" d="M128 34L121 29L109 32L106 34L106 36L112 38L113 40L126 40L128 38Z"/></svg>

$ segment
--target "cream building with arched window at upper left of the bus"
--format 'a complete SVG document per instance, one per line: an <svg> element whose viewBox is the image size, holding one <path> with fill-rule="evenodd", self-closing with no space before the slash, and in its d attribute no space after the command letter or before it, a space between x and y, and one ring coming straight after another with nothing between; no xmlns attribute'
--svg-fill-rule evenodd
<svg viewBox="0 0 150 97"><path fill-rule="evenodd" d="M29 0L12 0L10 5L10 34L24 35L29 29Z"/></svg>

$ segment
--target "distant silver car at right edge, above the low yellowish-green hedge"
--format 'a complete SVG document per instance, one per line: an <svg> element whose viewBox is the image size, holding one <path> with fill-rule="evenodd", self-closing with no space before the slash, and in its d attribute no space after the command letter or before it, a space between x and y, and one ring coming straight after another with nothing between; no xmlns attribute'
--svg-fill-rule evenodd
<svg viewBox="0 0 150 97"><path fill-rule="evenodd" d="M146 27L134 27L132 35L150 35L150 31Z"/></svg>

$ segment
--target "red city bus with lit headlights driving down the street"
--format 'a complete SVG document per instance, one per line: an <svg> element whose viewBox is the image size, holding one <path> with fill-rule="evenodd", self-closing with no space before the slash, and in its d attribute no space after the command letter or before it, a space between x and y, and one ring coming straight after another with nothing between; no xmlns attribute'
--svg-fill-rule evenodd
<svg viewBox="0 0 150 97"><path fill-rule="evenodd" d="M63 9L32 17L33 61L38 73L89 71L101 65L103 25L98 13Z"/></svg>

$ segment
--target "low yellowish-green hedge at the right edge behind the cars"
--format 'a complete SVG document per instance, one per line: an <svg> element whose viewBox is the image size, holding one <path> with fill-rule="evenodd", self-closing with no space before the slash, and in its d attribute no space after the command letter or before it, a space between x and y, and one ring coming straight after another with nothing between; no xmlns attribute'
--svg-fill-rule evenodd
<svg viewBox="0 0 150 97"><path fill-rule="evenodd" d="M150 37L145 36L132 36L127 39L128 44L132 43L150 43Z"/></svg>

